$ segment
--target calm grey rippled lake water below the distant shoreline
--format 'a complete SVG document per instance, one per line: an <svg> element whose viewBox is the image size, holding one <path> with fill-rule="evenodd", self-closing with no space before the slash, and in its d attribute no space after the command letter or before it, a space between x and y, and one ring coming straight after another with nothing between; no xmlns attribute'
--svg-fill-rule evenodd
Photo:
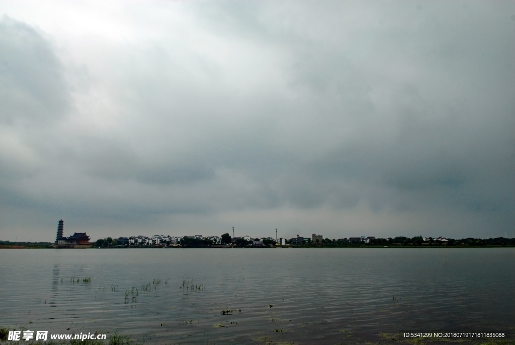
<svg viewBox="0 0 515 345"><path fill-rule="evenodd" d="M513 248L6 249L0 326L167 344L387 343L399 331L513 333L514 287Z"/></svg>

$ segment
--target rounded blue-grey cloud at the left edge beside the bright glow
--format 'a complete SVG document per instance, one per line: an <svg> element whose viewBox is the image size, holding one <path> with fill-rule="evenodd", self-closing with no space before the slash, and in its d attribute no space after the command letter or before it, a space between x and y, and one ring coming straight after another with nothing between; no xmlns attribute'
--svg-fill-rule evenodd
<svg viewBox="0 0 515 345"><path fill-rule="evenodd" d="M0 24L2 124L45 123L70 106L63 68L40 32L4 17Z"/></svg>

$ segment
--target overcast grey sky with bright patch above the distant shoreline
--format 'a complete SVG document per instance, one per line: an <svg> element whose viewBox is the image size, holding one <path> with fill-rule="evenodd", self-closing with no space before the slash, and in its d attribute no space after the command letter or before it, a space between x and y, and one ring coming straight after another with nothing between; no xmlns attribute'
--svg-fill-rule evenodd
<svg viewBox="0 0 515 345"><path fill-rule="evenodd" d="M513 1L0 16L0 240L515 237Z"/></svg>

